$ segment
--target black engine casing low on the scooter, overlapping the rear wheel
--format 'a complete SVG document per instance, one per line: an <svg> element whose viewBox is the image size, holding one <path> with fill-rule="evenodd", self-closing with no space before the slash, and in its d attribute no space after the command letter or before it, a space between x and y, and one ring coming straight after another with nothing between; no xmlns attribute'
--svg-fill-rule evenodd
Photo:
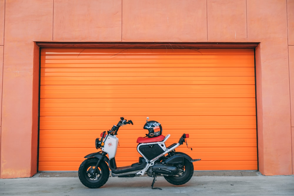
<svg viewBox="0 0 294 196"><path fill-rule="evenodd" d="M161 163L158 163L156 165L153 165L148 171L148 176L154 176L154 175L177 175L180 172L179 168L177 166L173 165L164 165Z"/></svg>

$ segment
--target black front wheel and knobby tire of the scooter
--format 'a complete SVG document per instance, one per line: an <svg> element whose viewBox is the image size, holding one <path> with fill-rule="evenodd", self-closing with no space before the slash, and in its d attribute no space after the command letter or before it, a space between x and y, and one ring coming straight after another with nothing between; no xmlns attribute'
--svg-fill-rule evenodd
<svg viewBox="0 0 294 196"><path fill-rule="evenodd" d="M78 168L78 178L80 179L81 183L88 188L99 188L103 186L108 180L109 168L104 161L99 163L95 177L90 174L90 171L95 169L97 161L97 158L86 159Z"/></svg>

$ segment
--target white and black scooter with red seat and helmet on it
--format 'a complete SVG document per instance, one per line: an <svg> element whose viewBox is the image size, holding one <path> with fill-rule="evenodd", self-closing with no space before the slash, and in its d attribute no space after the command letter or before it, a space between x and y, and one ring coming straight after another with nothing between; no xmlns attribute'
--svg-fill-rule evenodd
<svg viewBox="0 0 294 196"><path fill-rule="evenodd" d="M192 159L185 153L176 152L175 149L183 143L187 144L186 138L189 138L189 134L184 133L178 143L166 147L165 142L170 134L163 136L161 124L157 121L148 121L148 119L147 117L146 124L143 127L148 130L148 134L146 134L146 137L137 139L137 151L142 155L142 157L139 157L138 163L116 167L115 155L118 147L116 135L118 129L123 125L133 125L132 120L125 120L121 117L117 125L113 125L111 130L108 130L107 133L106 131L102 132L101 137L96 138L96 149L101 149L101 151L84 157L86 160L81 163L78 169L78 177L81 183L88 188L99 188L107 182L109 169L113 177L136 177L147 174L149 177L153 177L152 189L161 190L161 188L153 188L156 176L163 176L173 185L183 185L188 182L193 176L193 162L201 159Z"/></svg>

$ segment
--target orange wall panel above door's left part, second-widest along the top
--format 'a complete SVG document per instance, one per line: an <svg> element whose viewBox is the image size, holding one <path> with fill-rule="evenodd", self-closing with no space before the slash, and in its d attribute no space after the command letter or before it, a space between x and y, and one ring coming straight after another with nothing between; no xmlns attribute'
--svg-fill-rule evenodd
<svg viewBox="0 0 294 196"><path fill-rule="evenodd" d="M54 0L53 41L121 41L121 7L121 0Z"/></svg>

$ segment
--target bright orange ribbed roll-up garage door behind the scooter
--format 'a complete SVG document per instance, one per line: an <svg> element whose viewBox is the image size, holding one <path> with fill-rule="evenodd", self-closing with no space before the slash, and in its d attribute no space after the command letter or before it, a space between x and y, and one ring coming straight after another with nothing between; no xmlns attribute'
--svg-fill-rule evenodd
<svg viewBox="0 0 294 196"><path fill-rule="evenodd" d="M195 170L257 170L254 51L42 49L39 171L77 171L121 116L118 166L138 160L146 117L167 145L189 133Z"/></svg>

